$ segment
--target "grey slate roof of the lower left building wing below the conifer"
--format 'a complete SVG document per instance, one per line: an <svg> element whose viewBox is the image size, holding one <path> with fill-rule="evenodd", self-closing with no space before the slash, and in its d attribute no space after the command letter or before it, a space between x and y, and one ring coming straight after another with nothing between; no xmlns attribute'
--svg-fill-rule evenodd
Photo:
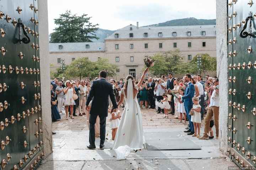
<svg viewBox="0 0 256 170"><path fill-rule="evenodd" d="M89 48L86 48L88 47ZM105 51L105 42L49 43L49 52Z"/></svg>

